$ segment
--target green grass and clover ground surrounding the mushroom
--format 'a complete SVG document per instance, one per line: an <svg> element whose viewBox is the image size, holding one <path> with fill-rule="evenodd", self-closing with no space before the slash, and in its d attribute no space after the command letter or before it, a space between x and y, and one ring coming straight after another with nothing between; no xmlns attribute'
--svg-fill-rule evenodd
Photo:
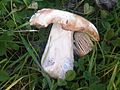
<svg viewBox="0 0 120 90"><path fill-rule="evenodd" d="M72 9L64 7L65 0L0 1L0 90L120 90L120 1L110 12L92 0L83 1ZM100 42L90 54L75 58L74 71L65 80L50 78L40 66L51 26L38 32L16 32L33 29L28 21L43 7L80 14L100 33Z"/></svg>

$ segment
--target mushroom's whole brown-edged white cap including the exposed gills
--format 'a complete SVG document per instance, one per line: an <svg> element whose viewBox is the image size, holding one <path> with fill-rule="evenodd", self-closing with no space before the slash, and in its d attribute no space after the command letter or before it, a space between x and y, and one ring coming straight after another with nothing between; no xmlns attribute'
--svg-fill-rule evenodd
<svg viewBox="0 0 120 90"><path fill-rule="evenodd" d="M45 8L38 10L30 19L30 25L47 27L51 23L74 32L74 51L80 56L92 50L92 41L100 40L96 27L90 21L67 11Z"/></svg>

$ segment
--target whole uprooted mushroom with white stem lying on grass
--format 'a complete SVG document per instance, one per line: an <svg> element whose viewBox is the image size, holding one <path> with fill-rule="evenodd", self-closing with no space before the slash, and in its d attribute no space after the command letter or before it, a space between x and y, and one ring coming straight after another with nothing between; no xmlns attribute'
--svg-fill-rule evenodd
<svg viewBox="0 0 120 90"><path fill-rule="evenodd" d="M89 53L99 41L96 27L85 18L57 9L38 10L30 25L47 27L53 23L41 65L54 78L65 78L68 70L73 70L75 51L79 56Z"/></svg>

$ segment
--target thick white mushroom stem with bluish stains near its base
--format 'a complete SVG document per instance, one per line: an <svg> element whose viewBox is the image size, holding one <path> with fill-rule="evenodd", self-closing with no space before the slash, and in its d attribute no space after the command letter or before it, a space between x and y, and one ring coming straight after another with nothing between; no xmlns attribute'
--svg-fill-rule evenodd
<svg viewBox="0 0 120 90"><path fill-rule="evenodd" d="M65 73L73 69L73 32L65 31L59 24L53 24L42 56L43 69L54 78L65 78Z"/></svg>

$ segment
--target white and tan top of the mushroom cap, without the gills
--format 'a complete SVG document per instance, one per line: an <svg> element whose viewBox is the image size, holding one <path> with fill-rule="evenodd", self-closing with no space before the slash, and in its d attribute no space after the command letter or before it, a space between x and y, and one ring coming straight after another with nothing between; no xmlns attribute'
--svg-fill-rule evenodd
<svg viewBox="0 0 120 90"><path fill-rule="evenodd" d="M90 21L67 11L45 8L38 10L30 19L30 25L47 27L51 23L58 23L65 30L87 33L95 41L100 39L96 27Z"/></svg>

